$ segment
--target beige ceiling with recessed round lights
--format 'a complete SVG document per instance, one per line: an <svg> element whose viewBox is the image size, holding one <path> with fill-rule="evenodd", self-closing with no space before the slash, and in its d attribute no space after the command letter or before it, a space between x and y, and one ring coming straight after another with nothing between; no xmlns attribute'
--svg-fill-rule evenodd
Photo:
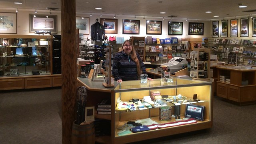
<svg viewBox="0 0 256 144"><path fill-rule="evenodd" d="M14 4L22 2L22 4ZM60 11L61 0L0 0L0 8ZM239 4L247 8L238 8ZM95 8L102 8L96 10ZM252 10L254 12L244 12ZM212 13L205 13L212 11ZM76 12L137 17L173 17L192 20L217 20L256 16L255 0L76 0ZM166 12L166 14L160 14ZM218 18L213 16L218 15Z"/></svg>

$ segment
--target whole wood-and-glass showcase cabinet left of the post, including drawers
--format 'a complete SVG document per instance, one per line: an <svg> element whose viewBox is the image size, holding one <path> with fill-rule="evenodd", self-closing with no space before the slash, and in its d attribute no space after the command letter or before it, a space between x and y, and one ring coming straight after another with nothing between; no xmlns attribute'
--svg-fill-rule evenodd
<svg viewBox="0 0 256 144"><path fill-rule="evenodd" d="M53 86L51 35L0 35L0 40L0 90Z"/></svg>

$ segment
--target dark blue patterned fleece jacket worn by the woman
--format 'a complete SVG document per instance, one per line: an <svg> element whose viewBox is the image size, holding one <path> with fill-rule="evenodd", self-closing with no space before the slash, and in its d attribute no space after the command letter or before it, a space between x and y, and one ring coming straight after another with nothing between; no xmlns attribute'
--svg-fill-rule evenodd
<svg viewBox="0 0 256 144"><path fill-rule="evenodd" d="M146 68L140 56L137 54L140 62L142 74L146 74ZM137 75L136 63L132 60L130 55L124 51L117 52L112 64L112 75L115 80L139 80Z"/></svg>

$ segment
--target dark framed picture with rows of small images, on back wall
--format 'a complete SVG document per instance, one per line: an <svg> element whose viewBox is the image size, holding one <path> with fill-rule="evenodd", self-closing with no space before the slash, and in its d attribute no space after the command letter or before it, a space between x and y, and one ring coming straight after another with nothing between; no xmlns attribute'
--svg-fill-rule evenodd
<svg viewBox="0 0 256 144"><path fill-rule="evenodd" d="M204 35L204 23L188 22L188 35Z"/></svg>

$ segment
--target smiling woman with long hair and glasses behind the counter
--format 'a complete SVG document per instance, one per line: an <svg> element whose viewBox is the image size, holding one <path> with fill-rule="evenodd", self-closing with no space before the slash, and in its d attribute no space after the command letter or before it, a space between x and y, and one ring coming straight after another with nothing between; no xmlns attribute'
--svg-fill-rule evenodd
<svg viewBox="0 0 256 144"><path fill-rule="evenodd" d="M146 68L140 56L134 50L132 42L126 40L122 49L116 53L112 64L112 75L117 82L139 80L140 74L146 74ZM148 78L148 80L152 80Z"/></svg>

